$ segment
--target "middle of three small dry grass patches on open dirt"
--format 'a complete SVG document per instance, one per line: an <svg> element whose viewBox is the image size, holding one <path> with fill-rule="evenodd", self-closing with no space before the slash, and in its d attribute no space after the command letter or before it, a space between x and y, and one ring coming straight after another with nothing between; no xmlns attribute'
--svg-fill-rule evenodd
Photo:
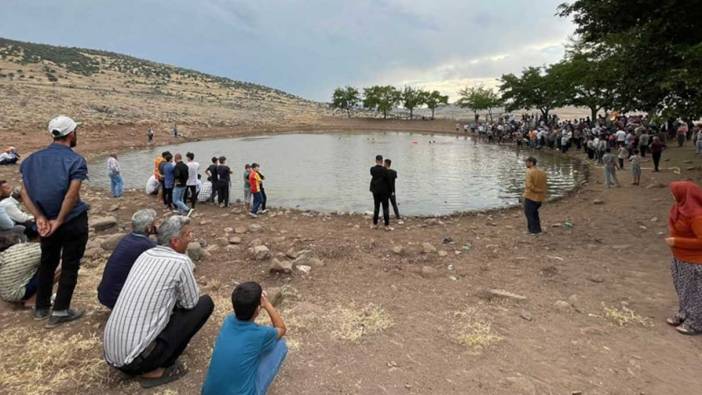
<svg viewBox="0 0 702 395"><path fill-rule="evenodd" d="M453 312L452 321L453 339L473 351L482 351L503 339L476 308Z"/></svg>

